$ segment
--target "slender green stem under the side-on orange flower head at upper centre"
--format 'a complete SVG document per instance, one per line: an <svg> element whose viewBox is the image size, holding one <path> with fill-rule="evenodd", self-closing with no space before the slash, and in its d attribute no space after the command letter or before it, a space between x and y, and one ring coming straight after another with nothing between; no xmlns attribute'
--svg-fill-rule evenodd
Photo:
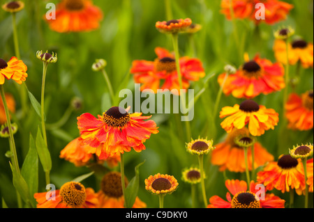
<svg viewBox="0 0 314 222"><path fill-rule="evenodd" d="M176 60L177 75L178 75L179 86L181 90L183 89L183 84L182 84L181 68L180 68L180 63L179 63L180 55L179 55L178 38L179 38L178 33L172 33L172 43L173 43L173 49L174 49L174 56ZM184 97L181 96L181 93L180 93L180 100L181 100L181 107L182 107L186 104L186 101L184 100ZM188 141L190 140L190 137L191 137L190 122L185 121L185 124L186 124L186 139Z"/></svg>

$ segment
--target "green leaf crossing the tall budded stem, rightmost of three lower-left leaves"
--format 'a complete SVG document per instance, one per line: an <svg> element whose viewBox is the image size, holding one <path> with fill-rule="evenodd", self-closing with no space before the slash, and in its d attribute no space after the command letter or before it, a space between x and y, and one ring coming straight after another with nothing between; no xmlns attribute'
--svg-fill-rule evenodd
<svg viewBox="0 0 314 222"><path fill-rule="evenodd" d="M49 172L52 168L52 161L50 157L50 152L40 132L39 126L36 136L36 148L40 162L43 165L43 170L45 172Z"/></svg>

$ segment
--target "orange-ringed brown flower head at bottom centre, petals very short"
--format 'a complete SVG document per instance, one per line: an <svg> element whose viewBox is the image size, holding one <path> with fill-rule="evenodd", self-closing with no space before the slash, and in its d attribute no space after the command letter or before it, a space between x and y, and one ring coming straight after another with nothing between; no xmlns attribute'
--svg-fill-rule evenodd
<svg viewBox="0 0 314 222"><path fill-rule="evenodd" d="M167 174L157 173L145 179L145 189L153 194L170 194L177 189L178 185L176 178Z"/></svg>

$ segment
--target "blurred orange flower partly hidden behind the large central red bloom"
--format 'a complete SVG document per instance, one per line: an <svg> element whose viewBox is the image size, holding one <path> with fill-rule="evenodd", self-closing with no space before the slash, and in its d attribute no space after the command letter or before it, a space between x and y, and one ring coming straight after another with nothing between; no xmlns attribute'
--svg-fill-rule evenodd
<svg viewBox="0 0 314 222"><path fill-rule="evenodd" d="M119 154L100 160L94 155L95 153L96 148L93 148L90 145L81 144L80 137L77 137L73 141L70 141L70 143L61 150L60 158L70 161L75 164L75 166L86 166L90 161L97 161L98 164L103 164L103 162L106 161L111 168L117 166L120 161Z"/></svg>

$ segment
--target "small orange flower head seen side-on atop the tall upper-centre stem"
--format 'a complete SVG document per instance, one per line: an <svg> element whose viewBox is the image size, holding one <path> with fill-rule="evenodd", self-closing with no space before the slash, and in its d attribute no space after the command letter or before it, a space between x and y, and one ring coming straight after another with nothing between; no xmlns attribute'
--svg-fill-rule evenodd
<svg viewBox="0 0 314 222"><path fill-rule="evenodd" d="M192 24L190 18L172 19L169 21L156 22L156 29L161 33L179 33L184 32Z"/></svg>

